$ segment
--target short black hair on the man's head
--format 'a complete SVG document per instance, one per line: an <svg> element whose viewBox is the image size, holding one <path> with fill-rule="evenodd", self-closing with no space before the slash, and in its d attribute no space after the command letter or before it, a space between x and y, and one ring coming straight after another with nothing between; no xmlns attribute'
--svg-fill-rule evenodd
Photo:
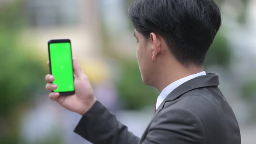
<svg viewBox="0 0 256 144"><path fill-rule="evenodd" d="M161 35L175 58L185 66L203 65L221 26L213 0L137 0L128 10L135 29L145 38Z"/></svg>

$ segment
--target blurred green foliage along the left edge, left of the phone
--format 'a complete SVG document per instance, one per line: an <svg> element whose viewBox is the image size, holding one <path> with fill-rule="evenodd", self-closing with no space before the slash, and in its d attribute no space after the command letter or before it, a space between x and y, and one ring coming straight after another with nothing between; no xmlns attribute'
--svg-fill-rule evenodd
<svg viewBox="0 0 256 144"><path fill-rule="evenodd" d="M34 55L29 41L19 43L21 1L0 5L0 144L18 143L23 106L43 88L46 67Z"/></svg>

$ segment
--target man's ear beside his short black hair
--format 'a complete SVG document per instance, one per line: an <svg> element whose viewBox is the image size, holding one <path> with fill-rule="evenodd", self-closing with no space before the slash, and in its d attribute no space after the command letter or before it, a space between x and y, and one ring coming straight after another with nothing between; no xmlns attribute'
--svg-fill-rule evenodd
<svg viewBox="0 0 256 144"><path fill-rule="evenodd" d="M160 39L158 39L158 35L155 33L150 33L149 37L152 43L152 61L156 61L161 51Z"/></svg>

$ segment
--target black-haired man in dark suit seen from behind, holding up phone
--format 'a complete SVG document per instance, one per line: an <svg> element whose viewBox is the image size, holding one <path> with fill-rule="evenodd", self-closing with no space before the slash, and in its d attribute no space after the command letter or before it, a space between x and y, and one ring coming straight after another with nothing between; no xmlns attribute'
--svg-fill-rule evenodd
<svg viewBox="0 0 256 144"><path fill-rule="evenodd" d="M203 71L205 55L220 28L213 0L138 0L129 14L138 40L142 81L158 89L156 108L141 139L93 96L75 59L75 95L49 98L82 115L75 132L94 144L240 144L232 108L218 75ZM54 77L46 75L52 91Z"/></svg>

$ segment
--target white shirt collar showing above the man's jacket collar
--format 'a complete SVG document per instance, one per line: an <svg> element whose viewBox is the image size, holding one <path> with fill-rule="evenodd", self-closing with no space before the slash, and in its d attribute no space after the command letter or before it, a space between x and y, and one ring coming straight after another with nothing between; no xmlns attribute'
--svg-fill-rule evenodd
<svg viewBox="0 0 256 144"><path fill-rule="evenodd" d="M201 76L201 75L206 75L206 73L203 71L203 72L196 73L194 75L188 75L188 76L186 76L182 79L179 79L179 80L171 83L166 88L164 88L162 90L162 92L160 93L160 95L158 96L157 103L156 103L156 109L158 109L158 107L161 105L161 103L164 101L164 99L167 97L167 95L169 95L175 88L177 88L178 86L180 86L184 82L187 82L190 79L194 79L194 78L196 78L198 76Z"/></svg>

